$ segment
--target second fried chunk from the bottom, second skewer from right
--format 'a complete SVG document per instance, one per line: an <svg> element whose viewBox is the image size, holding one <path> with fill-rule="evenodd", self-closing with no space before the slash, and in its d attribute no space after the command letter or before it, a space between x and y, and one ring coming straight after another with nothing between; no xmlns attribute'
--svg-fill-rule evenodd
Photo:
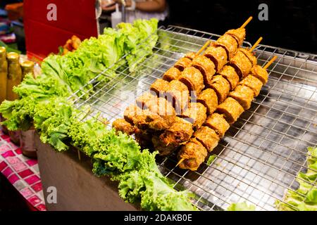
<svg viewBox="0 0 317 225"><path fill-rule="evenodd" d="M180 117L191 122L196 131L206 121L207 109L201 103L189 103L189 107Z"/></svg>

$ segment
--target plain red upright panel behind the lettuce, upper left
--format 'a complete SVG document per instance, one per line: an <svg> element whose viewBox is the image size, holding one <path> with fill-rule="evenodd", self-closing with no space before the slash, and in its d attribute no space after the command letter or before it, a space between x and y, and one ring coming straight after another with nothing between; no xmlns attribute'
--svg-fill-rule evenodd
<svg viewBox="0 0 317 225"><path fill-rule="evenodd" d="M80 39L97 37L95 0L23 1L25 44L30 60L43 60L57 53L75 34ZM51 5L54 4L54 5ZM53 11L52 11L53 10ZM56 20L53 15L56 13Z"/></svg>

